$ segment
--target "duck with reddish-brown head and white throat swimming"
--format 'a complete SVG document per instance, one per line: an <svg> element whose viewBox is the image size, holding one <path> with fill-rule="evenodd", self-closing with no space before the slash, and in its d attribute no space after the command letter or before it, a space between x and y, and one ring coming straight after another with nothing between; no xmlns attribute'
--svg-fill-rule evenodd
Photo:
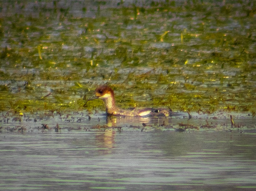
<svg viewBox="0 0 256 191"><path fill-rule="evenodd" d="M171 109L165 108L131 108L131 109L120 109L115 104L115 95L112 88L108 85L100 85L98 88L95 89L95 97L92 97L89 100L93 99L101 99L105 103L106 107L106 114L110 116L176 116L179 113L172 112Z"/></svg>

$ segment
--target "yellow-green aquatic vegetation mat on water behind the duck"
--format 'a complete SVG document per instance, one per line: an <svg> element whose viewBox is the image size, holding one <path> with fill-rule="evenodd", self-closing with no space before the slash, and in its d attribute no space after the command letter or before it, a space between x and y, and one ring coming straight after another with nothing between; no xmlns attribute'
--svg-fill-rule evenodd
<svg viewBox="0 0 256 191"><path fill-rule="evenodd" d="M255 1L85 2L0 2L1 111L104 110L108 83L124 108L255 115Z"/></svg>

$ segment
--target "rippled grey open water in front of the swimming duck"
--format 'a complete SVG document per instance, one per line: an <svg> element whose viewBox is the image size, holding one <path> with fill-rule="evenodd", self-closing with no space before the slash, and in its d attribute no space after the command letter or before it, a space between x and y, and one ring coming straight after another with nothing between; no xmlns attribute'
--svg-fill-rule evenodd
<svg viewBox="0 0 256 191"><path fill-rule="evenodd" d="M56 118L48 120L48 124L56 123ZM2 132L0 190L256 188L254 128L177 132L168 125L162 129L150 127L166 118L150 122L145 118L117 118L113 121L122 127L120 130L92 127L95 120L100 125L107 124L104 119L93 116L87 124L59 121L59 132L37 128L43 120L31 127L28 126L33 122L27 122L23 134ZM174 124L175 120L179 119L167 121ZM148 126L136 126L143 121Z"/></svg>

